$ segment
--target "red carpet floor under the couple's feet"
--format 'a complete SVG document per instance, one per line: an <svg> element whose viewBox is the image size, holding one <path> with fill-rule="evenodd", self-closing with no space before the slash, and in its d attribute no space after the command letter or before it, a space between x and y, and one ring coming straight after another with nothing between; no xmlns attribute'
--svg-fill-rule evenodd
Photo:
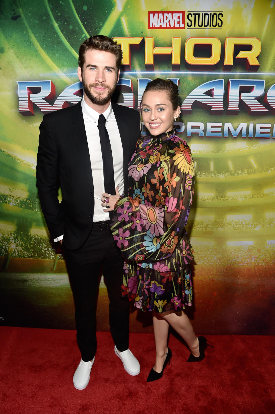
<svg viewBox="0 0 275 414"><path fill-rule="evenodd" d="M98 351L85 390L72 377L80 361L75 331L0 327L1 414L20 413L273 413L275 342L272 336L208 335L214 348L187 363L188 349L170 335L171 365L146 383L154 363L152 334L131 334L141 373L128 375L109 332L98 332Z"/></svg>

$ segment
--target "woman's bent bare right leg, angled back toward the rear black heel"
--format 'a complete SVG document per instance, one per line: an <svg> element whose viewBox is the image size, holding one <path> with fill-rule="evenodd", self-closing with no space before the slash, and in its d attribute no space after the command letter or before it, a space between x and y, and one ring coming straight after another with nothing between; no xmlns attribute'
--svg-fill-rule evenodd
<svg viewBox="0 0 275 414"><path fill-rule="evenodd" d="M195 335L193 326L191 325L188 316L183 311L180 313L172 311L164 312L162 317L184 339L189 346L191 353L194 356L199 356L200 351L198 348L198 338Z"/></svg>

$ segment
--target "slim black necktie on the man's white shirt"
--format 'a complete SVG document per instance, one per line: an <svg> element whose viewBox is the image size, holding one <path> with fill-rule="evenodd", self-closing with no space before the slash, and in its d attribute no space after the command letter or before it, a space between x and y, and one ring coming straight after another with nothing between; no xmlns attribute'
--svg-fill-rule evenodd
<svg viewBox="0 0 275 414"><path fill-rule="evenodd" d="M105 123L105 117L103 115L100 115L98 118L98 130L103 161L104 190L105 193L115 195L115 176L114 164L112 161L112 148Z"/></svg>

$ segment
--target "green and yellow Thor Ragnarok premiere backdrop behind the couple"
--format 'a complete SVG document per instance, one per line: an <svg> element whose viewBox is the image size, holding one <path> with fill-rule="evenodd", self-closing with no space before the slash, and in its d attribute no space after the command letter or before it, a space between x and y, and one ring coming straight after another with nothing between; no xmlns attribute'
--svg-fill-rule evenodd
<svg viewBox="0 0 275 414"><path fill-rule="evenodd" d="M36 152L43 114L81 99L79 45L104 34L123 50L117 103L138 110L156 77L179 86L175 126L196 169L196 331L275 334L274 18L274 0L1 2L2 325L74 329L62 250L37 196ZM103 278L98 330L108 330ZM133 310L131 330L151 332L150 315Z"/></svg>

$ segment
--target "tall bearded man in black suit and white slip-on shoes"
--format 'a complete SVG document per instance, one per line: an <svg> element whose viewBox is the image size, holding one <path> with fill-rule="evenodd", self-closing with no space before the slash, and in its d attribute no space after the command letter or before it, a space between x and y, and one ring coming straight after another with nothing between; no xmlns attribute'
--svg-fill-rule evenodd
<svg viewBox="0 0 275 414"><path fill-rule="evenodd" d="M79 48L78 77L84 96L75 106L52 112L40 125L36 186L54 241L63 246L72 286L81 361L74 387L88 385L96 353L98 277L103 269L110 300L115 353L130 375L140 371L128 349L129 305L122 300L123 258L110 231L102 193L127 194L128 163L140 135L137 111L111 103L122 51L106 36L91 36ZM57 199L59 183L62 202ZM108 201L108 200L107 200Z"/></svg>

